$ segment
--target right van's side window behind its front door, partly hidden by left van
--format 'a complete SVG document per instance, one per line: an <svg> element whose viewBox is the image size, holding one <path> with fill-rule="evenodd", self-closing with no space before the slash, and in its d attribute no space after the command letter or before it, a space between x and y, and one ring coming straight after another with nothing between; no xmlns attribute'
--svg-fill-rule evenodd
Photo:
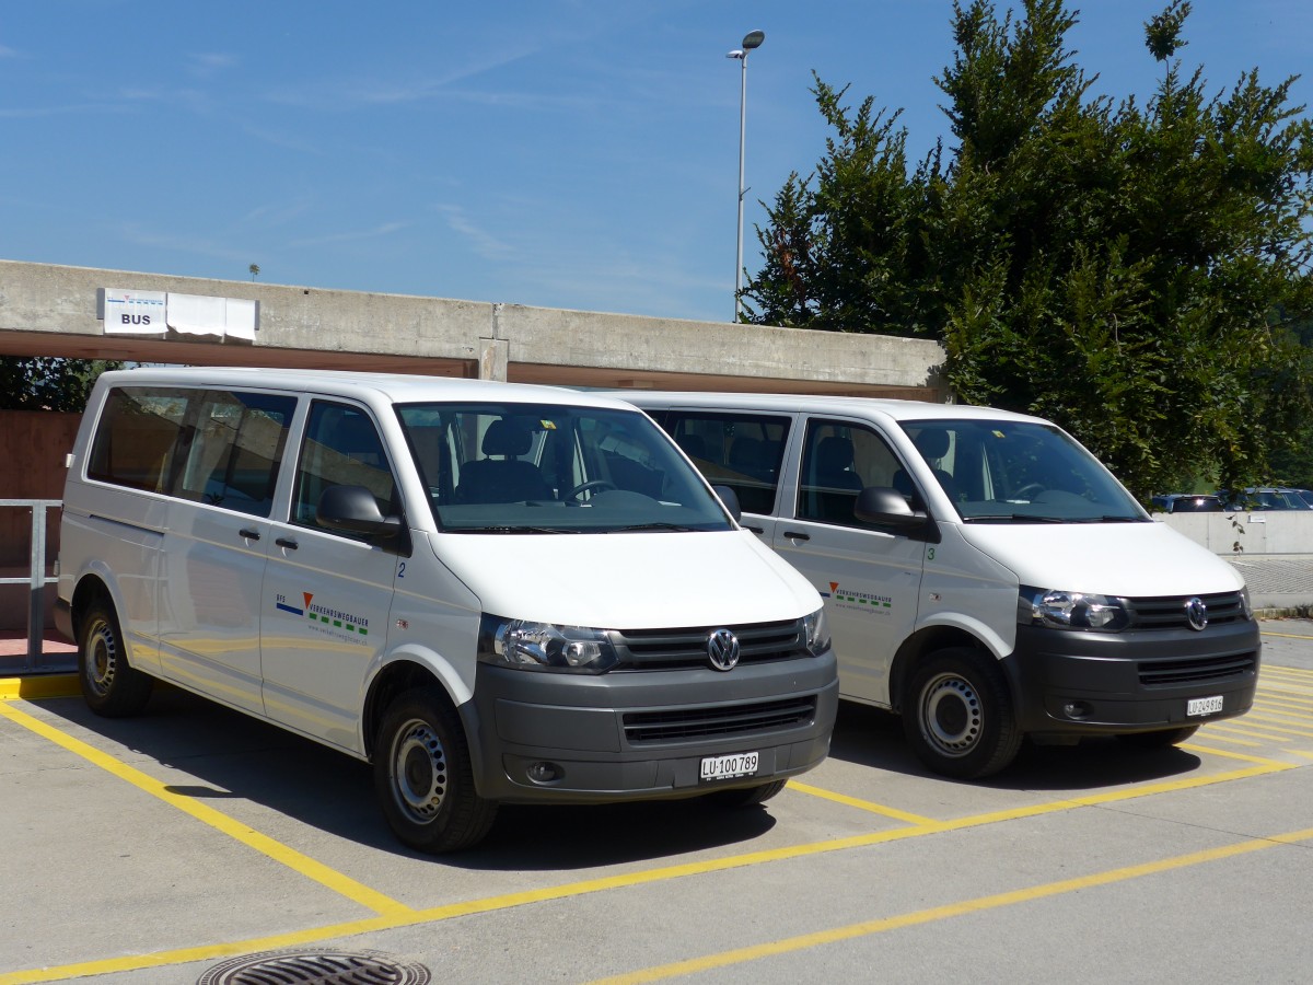
<svg viewBox="0 0 1313 985"><path fill-rule="evenodd" d="M775 510L789 419L768 414L671 411L662 427L716 486L729 486L747 514Z"/></svg>

